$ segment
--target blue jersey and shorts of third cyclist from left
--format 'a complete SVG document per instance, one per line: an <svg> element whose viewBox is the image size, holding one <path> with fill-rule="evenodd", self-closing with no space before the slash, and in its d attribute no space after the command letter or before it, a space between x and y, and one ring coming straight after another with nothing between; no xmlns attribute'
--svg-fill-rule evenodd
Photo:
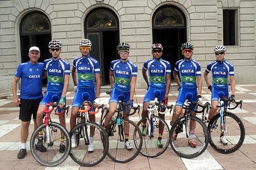
<svg viewBox="0 0 256 170"><path fill-rule="evenodd" d="M124 103L128 102L130 100L132 77L137 77L137 66L129 60L121 62L121 59L119 59L111 62L110 69L114 72L115 78L110 102L118 103L119 100Z"/></svg>

